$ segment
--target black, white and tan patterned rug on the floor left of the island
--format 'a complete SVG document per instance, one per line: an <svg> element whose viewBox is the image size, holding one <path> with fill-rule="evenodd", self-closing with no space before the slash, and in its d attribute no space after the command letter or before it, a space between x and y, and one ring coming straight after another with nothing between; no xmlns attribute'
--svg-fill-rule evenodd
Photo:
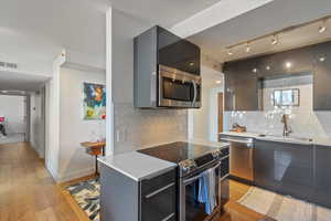
<svg viewBox="0 0 331 221"><path fill-rule="evenodd" d="M99 221L100 183L97 178L67 186L65 189L86 212L89 220Z"/></svg>

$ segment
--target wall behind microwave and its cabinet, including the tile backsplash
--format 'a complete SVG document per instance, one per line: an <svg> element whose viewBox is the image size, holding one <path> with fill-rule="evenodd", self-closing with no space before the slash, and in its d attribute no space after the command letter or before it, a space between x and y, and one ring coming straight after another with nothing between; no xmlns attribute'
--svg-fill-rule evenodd
<svg viewBox="0 0 331 221"><path fill-rule="evenodd" d="M188 110L134 107L134 38L148 28L142 21L111 11L108 74L113 81L115 154L188 138Z"/></svg>

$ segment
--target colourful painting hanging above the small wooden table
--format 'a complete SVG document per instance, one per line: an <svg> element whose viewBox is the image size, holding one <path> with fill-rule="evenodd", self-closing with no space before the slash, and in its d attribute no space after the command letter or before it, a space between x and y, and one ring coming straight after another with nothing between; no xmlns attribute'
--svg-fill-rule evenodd
<svg viewBox="0 0 331 221"><path fill-rule="evenodd" d="M106 118L106 87L102 84L84 83L84 119Z"/></svg>

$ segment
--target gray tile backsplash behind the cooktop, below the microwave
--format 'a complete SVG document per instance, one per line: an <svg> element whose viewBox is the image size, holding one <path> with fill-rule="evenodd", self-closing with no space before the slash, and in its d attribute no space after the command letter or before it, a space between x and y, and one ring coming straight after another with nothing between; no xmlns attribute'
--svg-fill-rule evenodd
<svg viewBox="0 0 331 221"><path fill-rule="evenodd" d="M185 140L186 109L138 109L115 104L115 154Z"/></svg>

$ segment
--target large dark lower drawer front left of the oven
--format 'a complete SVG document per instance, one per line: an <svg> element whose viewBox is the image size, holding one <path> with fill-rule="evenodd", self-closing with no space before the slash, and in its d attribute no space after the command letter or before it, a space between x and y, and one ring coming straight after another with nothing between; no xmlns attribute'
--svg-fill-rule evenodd
<svg viewBox="0 0 331 221"><path fill-rule="evenodd" d="M141 221L175 221L175 186L168 186L160 192L142 196Z"/></svg>

